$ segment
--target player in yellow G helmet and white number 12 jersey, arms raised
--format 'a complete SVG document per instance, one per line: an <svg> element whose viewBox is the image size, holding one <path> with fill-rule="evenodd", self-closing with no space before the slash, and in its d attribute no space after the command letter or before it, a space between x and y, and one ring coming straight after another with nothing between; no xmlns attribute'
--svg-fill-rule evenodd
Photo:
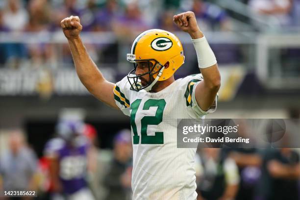
<svg viewBox="0 0 300 200"><path fill-rule="evenodd" d="M175 80L175 71L184 63L182 45L171 32L151 29L133 41L127 60L134 68L116 84L103 77L87 53L79 18L61 21L81 82L96 98L130 117L133 200L197 198L196 149L176 148L176 120L214 112L221 78L195 14L184 12L173 20L190 34L201 74Z"/></svg>

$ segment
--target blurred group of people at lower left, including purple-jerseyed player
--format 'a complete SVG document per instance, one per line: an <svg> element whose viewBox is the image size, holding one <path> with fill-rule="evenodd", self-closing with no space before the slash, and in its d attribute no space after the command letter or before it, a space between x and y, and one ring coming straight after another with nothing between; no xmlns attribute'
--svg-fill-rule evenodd
<svg viewBox="0 0 300 200"><path fill-rule="evenodd" d="M97 135L93 125L61 121L38 158L21 130L9 132L7 148L0 151L0 194L26 190L37 191L40 200L131 199L131 131L115 134L113 150L100 150Z"/></svg>

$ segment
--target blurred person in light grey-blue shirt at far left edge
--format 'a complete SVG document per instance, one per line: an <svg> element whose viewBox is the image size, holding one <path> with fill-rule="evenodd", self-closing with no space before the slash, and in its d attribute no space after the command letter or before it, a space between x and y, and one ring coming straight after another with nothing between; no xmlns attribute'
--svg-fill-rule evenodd
<svg viewBox="0 0 300 200"><path fill-rule="evenodd" d="M20 130L11 132L8 142L9 149L0 156L3 189L36 190L37 158L26 146L23 133Z"/></svg>

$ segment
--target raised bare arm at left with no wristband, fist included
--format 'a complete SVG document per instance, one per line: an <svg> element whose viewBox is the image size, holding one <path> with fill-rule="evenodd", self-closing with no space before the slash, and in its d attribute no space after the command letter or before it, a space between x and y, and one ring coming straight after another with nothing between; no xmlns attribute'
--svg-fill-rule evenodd
<svg viewBox="0 0 300 200"><path fill-rule="evenodd" d="M69 47L75 63L76 73L82 84L102 102L119 109L114 100L113 83L107 81L85 49L79 33L82 30L77 16L61 21L61 27L68 39Z"/></svg>

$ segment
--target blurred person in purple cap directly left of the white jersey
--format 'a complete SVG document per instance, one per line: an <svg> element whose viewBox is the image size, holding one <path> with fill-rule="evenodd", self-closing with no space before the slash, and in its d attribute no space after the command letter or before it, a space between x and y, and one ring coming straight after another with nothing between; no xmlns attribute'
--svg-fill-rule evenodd
<svg viewBox="0 0 300 200"><path fill-rule="evenodd" d="M114 138L114 158L104 178L108 189L107 200L128 199L128 191L131 191L131 158L131 131L124 129Z"/></svg>

